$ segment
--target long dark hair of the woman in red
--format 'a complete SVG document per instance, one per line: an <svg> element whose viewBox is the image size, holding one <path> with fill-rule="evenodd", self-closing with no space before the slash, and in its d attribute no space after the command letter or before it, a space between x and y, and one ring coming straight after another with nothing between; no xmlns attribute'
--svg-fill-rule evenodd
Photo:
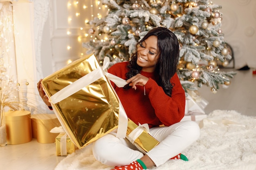
<svg viewBox="0 0 256 170"><path fill-rule="evenodd" d="M179 61L179 42L172 31L164 27L157 27L148 31L144 38L136 44L136 47L152 35L157 36L159 54L159 62L155 65L154 71L156 77L159 77L157 84L163 88L166 95L171 97L174 85L170 83L170 79L176 73ZM128 68L130 68L128 73L126 73L128 79L140 73L142 69L137 64L137 48L136 52L131 56ZM129 88L129 86L125 86L124 88Z"/></svg>

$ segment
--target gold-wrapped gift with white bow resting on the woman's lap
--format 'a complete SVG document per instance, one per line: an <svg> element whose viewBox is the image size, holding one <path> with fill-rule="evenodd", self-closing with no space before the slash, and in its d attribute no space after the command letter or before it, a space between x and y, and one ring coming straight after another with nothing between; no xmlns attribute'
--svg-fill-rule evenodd
<svg viewBox="0 0 256 170"><path fill-rule="evenodd" d="M130 119L128 121L126 138L144 154L159 144L159 141L149 134L147 124L137 126Z"/></svg>

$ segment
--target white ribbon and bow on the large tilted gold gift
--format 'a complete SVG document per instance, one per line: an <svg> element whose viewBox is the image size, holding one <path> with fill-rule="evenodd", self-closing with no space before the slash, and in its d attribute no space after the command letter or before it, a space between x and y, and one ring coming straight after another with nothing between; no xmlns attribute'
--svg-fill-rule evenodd
<svg viewBox="0 0 256 170"><path fill-rule="evenodd" d="M49 102L52 104L56 104L60 102L61 100L69 97L70 95L78 92L85 86L88 86L89 84L92 84L97 79L103 77L106 75L108 79L110 79L112 82L114 82L118 87L124 87L127 82L124 79L121 79L120 77L117 77L115 75L112 75L107 72L108 65L110 64L109 57L105 57L103 61L103 66L95 69L94 71L90 72L87 75L84 75L80 79L76 80L72 84L69 84L65 88L61 89L51 97L49 97ZM115 92L115 90L113 89ZM119 98L118 98L119 99ZM53 107L54 109L54 107ZM126 137L126 130L128 125L128 117L124 111L124 108L119 100L119 116L118 116L118 128L117 128L117 137L125 138Z"/></svg>

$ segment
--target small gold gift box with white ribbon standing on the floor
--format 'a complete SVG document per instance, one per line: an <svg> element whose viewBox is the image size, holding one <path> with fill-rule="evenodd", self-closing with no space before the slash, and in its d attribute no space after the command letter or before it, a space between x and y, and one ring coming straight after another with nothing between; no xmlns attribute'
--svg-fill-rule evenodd
<svg viewBox="0 0 256 170"><path fill-rule="evenodd" d="M60 133L56 137L56 155L57 156L67 156L72 154L76 147L71 139L65 133Z"/></svg>

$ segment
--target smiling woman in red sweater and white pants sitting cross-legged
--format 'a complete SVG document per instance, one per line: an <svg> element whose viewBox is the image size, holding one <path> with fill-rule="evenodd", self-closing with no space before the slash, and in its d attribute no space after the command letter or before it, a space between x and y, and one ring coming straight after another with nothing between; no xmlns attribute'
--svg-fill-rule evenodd
<svg viewBox="0 0 256 170"><path fill-rule="evenodd" d="M191 145L200 136L198 124L182 121L185 93L176 73L179 43L170 30L157 27L137 43L129 62L120 62L109 73L127 79L127 86L112 83L127 116L138 124L148 124L150 135L160 143L144 155L128 139L117 138L116 130L97 139L93 155L113 170L146 170L160 166ZM38 91L50 106L38 82ZM160 126L164 125L164 126Z"/></svg>

